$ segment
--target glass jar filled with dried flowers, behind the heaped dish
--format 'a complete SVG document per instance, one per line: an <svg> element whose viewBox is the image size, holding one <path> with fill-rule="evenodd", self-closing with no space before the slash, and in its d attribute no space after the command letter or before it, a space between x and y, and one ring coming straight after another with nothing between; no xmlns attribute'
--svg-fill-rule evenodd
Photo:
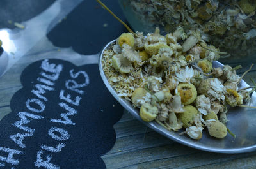
<svg viewBox="0 0 256 169"><path fill-rule="evenodd" d="M159 27L165 34L182 27L189 34L198 30L202 40L227 52L223 57L231 55L236 61L256 57L255 0L118 1L135 31L153 33Z"/></svg>

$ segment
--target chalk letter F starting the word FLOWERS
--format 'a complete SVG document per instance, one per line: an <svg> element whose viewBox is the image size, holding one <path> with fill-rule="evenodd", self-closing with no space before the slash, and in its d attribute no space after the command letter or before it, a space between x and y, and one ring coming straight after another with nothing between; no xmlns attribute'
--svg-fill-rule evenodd
<svg viewBox="0 0 256 169"><path fill-rule="evenodd" d="M50 161L52 159L51 155L46 155L46 161L44 161L42 159L42 154L43 153L44 153L44 151L42 151L42 150L37 152L35 166L37 166L38 168L44 167L44 168L47 168L47 169L58 169L58 168L60 168L59 166L50 163Z"/></svg>

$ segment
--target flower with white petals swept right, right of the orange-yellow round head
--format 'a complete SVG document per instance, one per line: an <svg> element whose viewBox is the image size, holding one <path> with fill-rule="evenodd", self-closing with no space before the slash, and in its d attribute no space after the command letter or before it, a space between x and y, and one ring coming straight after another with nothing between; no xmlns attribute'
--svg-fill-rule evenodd
<svg viewBox="0 0 256 169"><path fill-rule="evenodd" d="M227 93L226 88L218 78L207 78L202 80L198 87L198 94L205 94L210 99L224 100Z"/></svg>

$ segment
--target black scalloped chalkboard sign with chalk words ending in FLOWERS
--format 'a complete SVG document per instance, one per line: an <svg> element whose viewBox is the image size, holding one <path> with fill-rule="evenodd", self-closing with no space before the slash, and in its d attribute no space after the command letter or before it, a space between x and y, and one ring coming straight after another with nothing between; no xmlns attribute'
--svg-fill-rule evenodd
<svg viewBox="0 0 256 169"><path fill-rule="evenodd" d="M122 107L96 64L59 59L29 65L12 112L0 121L0 168L105 168Z"/></svg>

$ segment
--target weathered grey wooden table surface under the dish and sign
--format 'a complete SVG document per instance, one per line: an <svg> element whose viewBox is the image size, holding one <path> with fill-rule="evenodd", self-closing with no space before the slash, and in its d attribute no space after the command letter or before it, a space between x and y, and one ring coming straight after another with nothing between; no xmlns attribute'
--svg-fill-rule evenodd
<svg viewBox="0 0 256 169"><path fill-rule="evenodd" d="M38 43L40 45L36 45L0 78L0 120L11 112L10 99L22 87L20 73L31 62L49 55L77 66L97 62L97 55L79 55L70 48L56 48L47 38ZM239 74L243 71L239 70ZM253 77L256 75L251 71L244 80L251 84L250 78ZM116 143L111 151L102 156L107 168L256 168L256 152L218 154L199 151L159 135L126 111L114 128Z"/></svg>

